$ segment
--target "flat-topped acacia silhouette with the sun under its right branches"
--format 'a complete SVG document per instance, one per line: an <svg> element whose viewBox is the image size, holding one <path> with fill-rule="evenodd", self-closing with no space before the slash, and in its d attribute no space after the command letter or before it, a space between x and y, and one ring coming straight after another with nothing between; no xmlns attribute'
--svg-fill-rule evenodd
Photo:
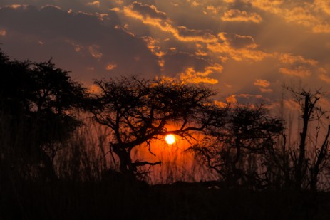
<svg viewBox="0 0 330 220"><path fill-rule="evenodd" d="M120 172L130 177L137 167L161 164L133 162L135 147L145 143L151 152L152 140L167 134L190 138L191 132L202 131L212 121L210 97L215 92L203 86L135 77L97 80L96 85L101 93L91 112L110 128L110 152L118 156ZM170 130L171 123L177 128Z"/></svg>

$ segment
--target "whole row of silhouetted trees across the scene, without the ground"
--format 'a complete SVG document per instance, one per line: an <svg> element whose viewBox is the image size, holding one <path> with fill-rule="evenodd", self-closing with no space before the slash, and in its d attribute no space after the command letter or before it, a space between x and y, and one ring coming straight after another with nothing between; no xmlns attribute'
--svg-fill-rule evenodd
<svg viewBox="0 0 330 220"><path fill-rule="evenodd" d="M303 122L300 137L291 143L286 139L290 125L265 105L220 106L217 91L205 85L133 76L96 80L100 93L91 94L51 61L15 61L2 51L0 69L0 169L5 179L13 169L23 179L58 179L53 159L84 126L77 111L108 128L105 154L115 155L119 172L129 179L137 177L140 167L161 164L133 161L133 149L147 145L154 154L154 140L174 134L189 142L195 133L202 140L188 151L214 169L225 187L316 191L320 177L329 178L330 127L319 106L320 90L289 88ZM312 134L314 122L319 128Z"/></svg>

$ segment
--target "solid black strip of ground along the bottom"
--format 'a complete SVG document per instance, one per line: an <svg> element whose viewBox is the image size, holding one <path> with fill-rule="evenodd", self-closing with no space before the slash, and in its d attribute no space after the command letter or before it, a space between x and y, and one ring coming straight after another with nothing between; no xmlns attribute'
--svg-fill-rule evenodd
<svg viewBox="0 0 330 220"><path fill-rule="evenodd" d="M0 192L0 219L330 219L325 192L60 181L13 182Z"/></svg>

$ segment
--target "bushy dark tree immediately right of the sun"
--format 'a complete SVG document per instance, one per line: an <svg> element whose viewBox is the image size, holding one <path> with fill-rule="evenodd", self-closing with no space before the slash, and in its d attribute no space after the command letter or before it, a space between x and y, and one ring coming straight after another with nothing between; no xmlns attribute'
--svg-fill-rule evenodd
<svg viewBox="0 0 330 220"><path fill-rule="evenodd" d="M227 114L209 127L204 142L190 147L200 160L220 174L227 187L265 187L267 152L274 150L282 121L264 105L228 106Z"/></svg>

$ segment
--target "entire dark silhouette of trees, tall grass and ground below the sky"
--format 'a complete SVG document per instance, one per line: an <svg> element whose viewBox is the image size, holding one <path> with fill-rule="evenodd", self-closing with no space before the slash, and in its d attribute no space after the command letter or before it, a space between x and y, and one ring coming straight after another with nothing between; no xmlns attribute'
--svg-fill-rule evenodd
<svg viewBox="0 0 330 220"><path fill-rule="evenodd" d="M302 120L290 142L266 105L216 105L202 85L122 77L96 80L91 94L51 61L1 50L0 75L0 219L330 217L320 90L289 88ZM161 162L131 152L145 144L153 154L167 134L198 141L187 151L217 179L141 181L142 167Z"/></svg>

